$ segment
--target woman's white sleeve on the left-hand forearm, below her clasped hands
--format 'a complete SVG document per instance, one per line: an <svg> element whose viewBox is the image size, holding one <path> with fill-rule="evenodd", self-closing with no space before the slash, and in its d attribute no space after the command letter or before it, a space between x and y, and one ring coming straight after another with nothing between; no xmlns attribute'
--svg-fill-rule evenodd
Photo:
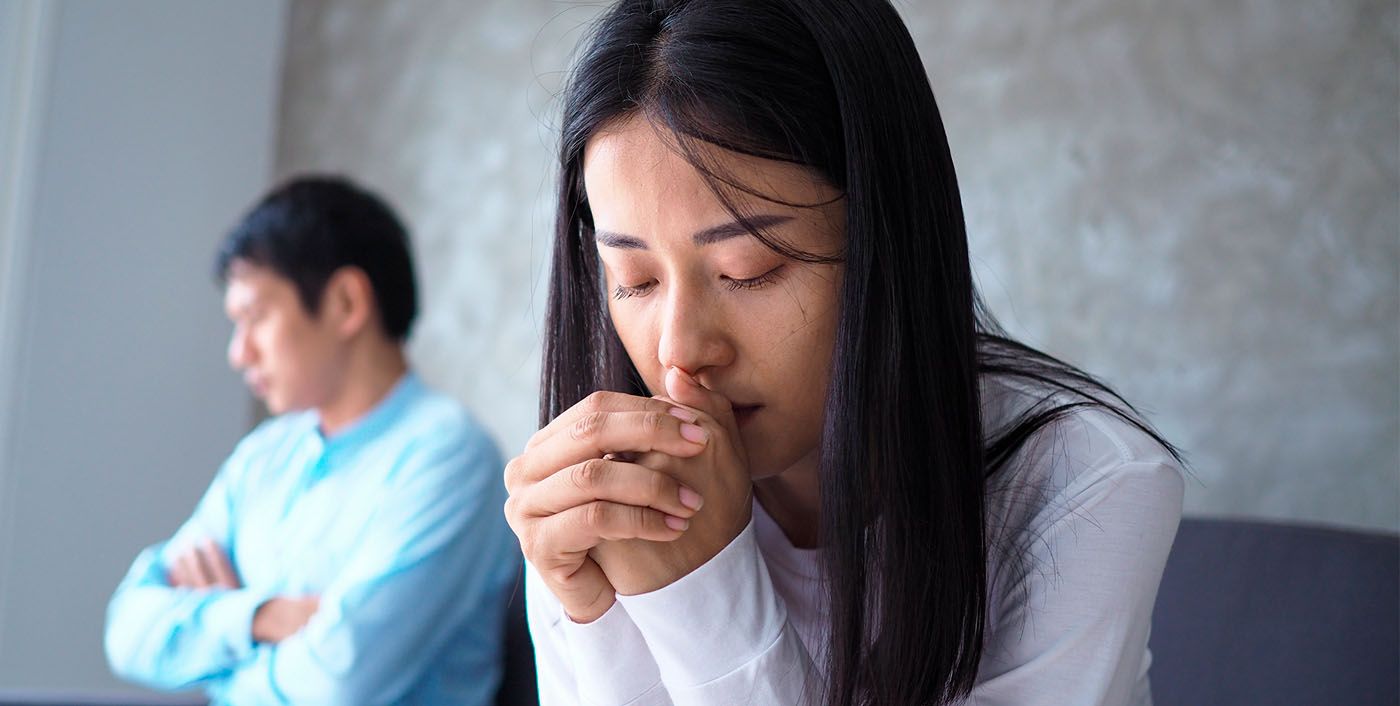
<svg viewBox="0 0 1400 706"><path fill-rule="evenodd" d="M525 609L540 706L671 706L647 642L622 604L575 623L526 563Z"/></svg>

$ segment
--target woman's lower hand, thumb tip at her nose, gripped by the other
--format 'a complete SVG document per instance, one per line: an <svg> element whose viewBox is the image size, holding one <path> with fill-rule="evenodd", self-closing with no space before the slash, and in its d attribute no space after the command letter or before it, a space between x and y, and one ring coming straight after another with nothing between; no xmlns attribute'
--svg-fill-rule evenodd
<svg viewBox="0 0 1400 706"><path fill-rule="evenodd" d="M729 401L678 368L666 371L665 385L662 399L696 413L693 423L710 437L706 448L690 458L652 451L631 462L696 489L704 504L679 539L617 539L589 551L622 595L655 591L694 572L739 537L753 514L753 480Z"/></svg>

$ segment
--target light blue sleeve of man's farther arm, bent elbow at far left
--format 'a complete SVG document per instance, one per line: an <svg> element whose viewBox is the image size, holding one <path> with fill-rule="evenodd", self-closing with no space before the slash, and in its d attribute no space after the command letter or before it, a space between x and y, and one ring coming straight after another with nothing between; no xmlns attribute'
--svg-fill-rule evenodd
<svg viewBox="0 0 1400 706"><path fill-rule="evenodd" d="M241 469L234 455L214 476L195 514L168 542L144 549L108 604L104 647L112 671L158 689L183 689L227 675L253 656L256 591L175 588L172 559L203 538L230 545L231 507Z"/></svg>

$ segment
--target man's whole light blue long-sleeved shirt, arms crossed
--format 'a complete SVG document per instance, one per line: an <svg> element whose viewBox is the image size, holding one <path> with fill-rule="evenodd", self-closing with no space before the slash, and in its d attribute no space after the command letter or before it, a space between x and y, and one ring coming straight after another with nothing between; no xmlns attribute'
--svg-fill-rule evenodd
<svg viewBox="0 0 1400 706"><path fill-rule="evenodd" d="M490 703L519 566L501 468L461 405L413 374L330 438L315 412L265 422L118 587L112 670L238 706ZM206 537L242 588L167 583ZM319 595L321 608L291 637L253 643L253 612L276 595Z"/></svg>

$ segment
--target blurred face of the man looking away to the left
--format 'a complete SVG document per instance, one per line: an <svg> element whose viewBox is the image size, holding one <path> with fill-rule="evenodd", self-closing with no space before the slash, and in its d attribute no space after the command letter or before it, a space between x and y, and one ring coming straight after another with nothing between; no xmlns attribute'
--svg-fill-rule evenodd
<svg viewBox="0 0 1400 706"><path fill-rule="evenodd" d="M234 322L228 364L269 412L311 409L332 399L346 345L329 322L307 312L288 279L235 261L224 312Z"/></svg>

